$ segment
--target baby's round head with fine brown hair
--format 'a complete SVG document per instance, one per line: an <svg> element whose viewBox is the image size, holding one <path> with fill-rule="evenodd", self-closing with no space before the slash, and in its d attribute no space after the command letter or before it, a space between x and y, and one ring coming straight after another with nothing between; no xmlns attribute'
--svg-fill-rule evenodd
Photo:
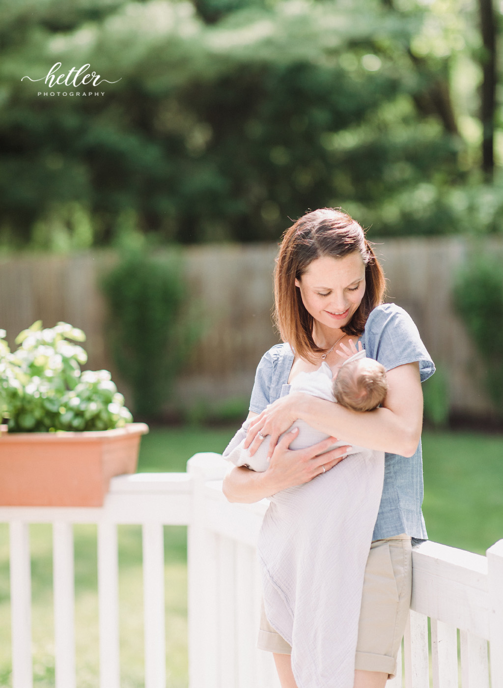
<svg viewBox="0 0 503 688"><path fill-rule="evenodd" d="M345 363L334 378L332 391L339 404L347 409L372 411L385 400L385 368L373 358Z"/></svg>

